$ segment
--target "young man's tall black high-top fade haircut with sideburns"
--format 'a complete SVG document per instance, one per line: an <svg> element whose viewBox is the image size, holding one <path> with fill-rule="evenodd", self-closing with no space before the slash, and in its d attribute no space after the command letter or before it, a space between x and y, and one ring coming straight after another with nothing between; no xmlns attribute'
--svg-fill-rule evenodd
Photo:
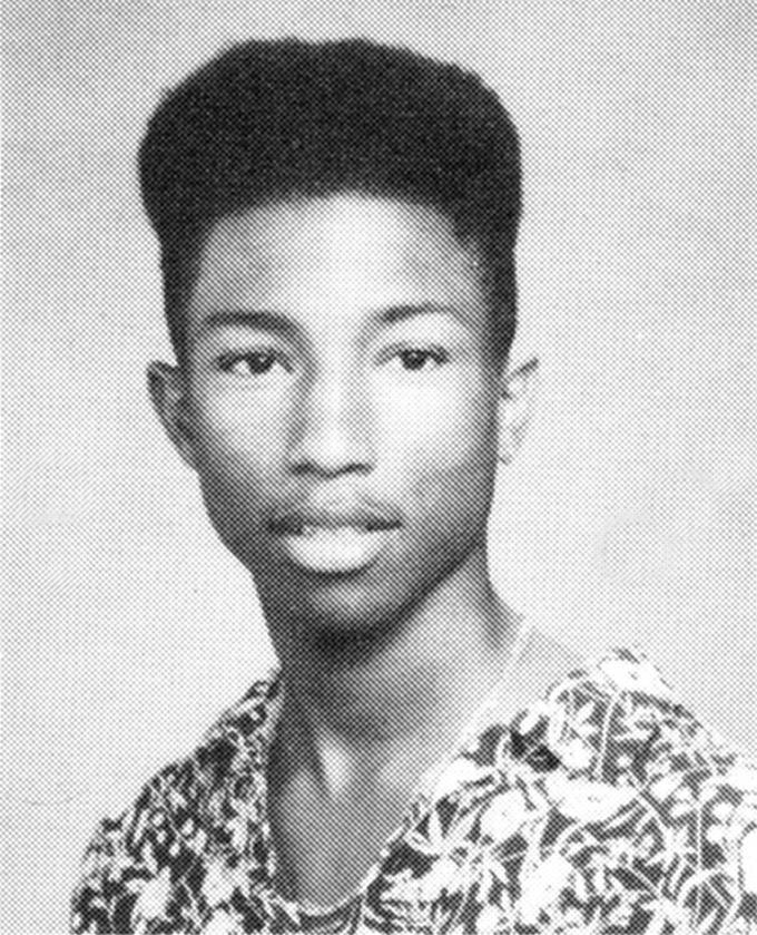
<svg viewBox="0 0 757 935"><path fill-rule="evenodd" d="M235 45L169 91L139 152L179 360L184 308L223 217L343 192L432 206L471 249L507 356L515 330L520 147L497 95L458 66L363 39Z"/></svg>

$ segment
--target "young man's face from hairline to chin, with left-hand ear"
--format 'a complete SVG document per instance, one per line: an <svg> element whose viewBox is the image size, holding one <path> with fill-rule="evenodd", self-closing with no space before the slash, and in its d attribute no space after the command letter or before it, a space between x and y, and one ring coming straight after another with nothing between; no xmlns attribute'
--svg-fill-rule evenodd
<svg viewBox="0 0 757 935"><path fill-rule="evenodd" d="M340 195L224 218L186 314L154 398L267 614L376 626L484 547L508 395L443 215Z"/></svg>

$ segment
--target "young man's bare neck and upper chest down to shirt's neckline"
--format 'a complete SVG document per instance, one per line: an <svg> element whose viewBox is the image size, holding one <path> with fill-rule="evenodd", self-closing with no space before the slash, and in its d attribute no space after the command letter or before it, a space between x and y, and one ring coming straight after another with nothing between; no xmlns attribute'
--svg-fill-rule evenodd
<svg viewBox="0 0 757 935"><path fill-rule="evenodd" d="M503 676L518 630L499 602L469 603L416 619L367 663L283 665L267 779L285 898L330 907L355 893Z"/></svg>

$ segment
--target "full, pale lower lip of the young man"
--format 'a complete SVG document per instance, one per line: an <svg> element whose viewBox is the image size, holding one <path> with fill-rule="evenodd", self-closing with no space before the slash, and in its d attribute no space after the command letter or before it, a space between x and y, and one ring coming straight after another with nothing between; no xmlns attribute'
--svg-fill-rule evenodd
<svg viewBox="0 0 757 935"><path fill-rule="evenodd" d="M356 572L374 562L396 535L396 529L360 529L354 526L319 528L283 536L288 557L318 574Z"/></svg>

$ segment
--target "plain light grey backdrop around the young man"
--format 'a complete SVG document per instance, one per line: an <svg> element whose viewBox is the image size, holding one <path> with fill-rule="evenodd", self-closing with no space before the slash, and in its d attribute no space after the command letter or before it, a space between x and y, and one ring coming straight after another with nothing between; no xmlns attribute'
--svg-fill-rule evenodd
<svg viewBox="0 0 757 935"><path fill-rule="evenodd" d="M754 749L749 10L6 4L3 932L65 929L96 820L272 660L144 391L168 350L135 148L160 89L235 38L404 41L500 91L525 157L514 357L543 374L495 579L583 654L638 643Z"/></svg>

